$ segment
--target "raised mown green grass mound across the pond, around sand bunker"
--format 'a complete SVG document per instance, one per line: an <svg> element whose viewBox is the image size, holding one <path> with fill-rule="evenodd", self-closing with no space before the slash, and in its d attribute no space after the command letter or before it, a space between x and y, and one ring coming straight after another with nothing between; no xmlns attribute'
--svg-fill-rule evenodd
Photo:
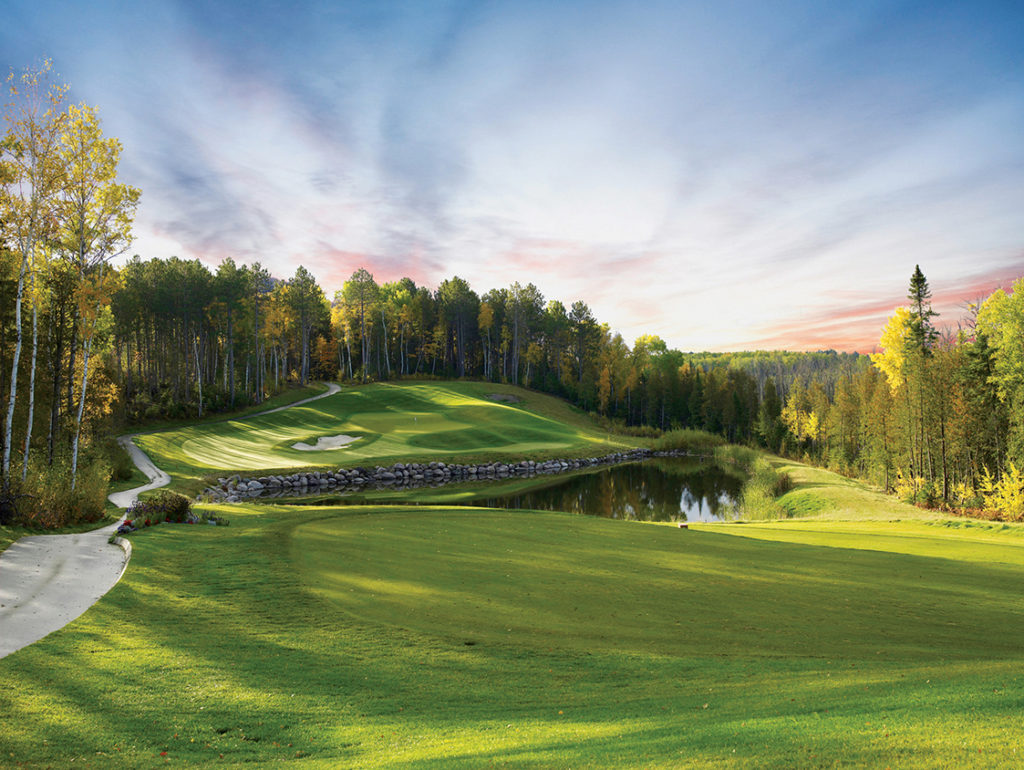
<svg viewBox="0 0 1024 770"><path fill-rule="evenodd" d="M493 393L519 401L488 399ZM298 441L315 443L319 436L338 434L358 440L328 452L292 448ZM557 398L477 382L346 388L287 412L152 433L137 441L187 488L227 471L594 455L636 445L635 439L609 437Z"/></svg>

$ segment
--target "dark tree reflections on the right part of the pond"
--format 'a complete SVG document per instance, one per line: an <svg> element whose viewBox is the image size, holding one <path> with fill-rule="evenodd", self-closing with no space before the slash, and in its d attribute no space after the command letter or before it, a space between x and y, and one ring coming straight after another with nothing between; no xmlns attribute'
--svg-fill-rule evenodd
<svg viewBox="0 0 1024 770"><path fill-rule="evenodd" d="M526 490L501 494L492 487L460 503L639 521L721 521L729 517L741 486L719 466L663 458L552 477Z"/></svg>

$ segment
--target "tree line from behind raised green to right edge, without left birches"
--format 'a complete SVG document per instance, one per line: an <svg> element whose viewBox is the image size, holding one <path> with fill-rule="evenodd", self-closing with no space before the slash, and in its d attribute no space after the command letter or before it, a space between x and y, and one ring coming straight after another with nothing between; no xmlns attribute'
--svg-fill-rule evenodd
<svg viewBox="0 0 1024 770"><path fill-rule="evenodd" d="M230 260L138 258L121 279L113 341L131 419L258 402L310 378L471 377L562 396L617 430L719 433L929 505L983 506L1024 468L1020 285L941 333L918 268L865 356L630 346L585 302L546 302L532 284L477 294L458 276L431 290L359 268L328 299L302 267L282 281Z"/></svg>

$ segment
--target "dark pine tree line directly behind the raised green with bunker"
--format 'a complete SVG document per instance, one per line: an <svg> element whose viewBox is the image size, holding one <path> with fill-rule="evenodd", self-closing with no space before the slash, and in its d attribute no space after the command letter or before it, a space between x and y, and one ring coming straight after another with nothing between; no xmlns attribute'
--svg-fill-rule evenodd
<svg viewBox="0 0 1024 770"><path fill-rule="evenodd" d="M230 259L138 257L119 280L111 353L129 421L258 403L286 382L470 377L560 395L618 429L755 438L757 376L653 336L631 347L585 302L545 302L532 284L479 295L458 276L432 290L359 268L328 299L304 267L279 280Z"/></svg>

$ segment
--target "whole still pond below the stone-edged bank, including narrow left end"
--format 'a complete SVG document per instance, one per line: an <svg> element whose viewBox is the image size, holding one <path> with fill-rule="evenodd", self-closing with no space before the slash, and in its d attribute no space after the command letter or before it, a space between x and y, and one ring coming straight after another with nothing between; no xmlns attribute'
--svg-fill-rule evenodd
<svg viewBox="0 0 1024 770"><path fill-rule="evenodd" d="M505 481L289 495L288 499L298 505L458 505L566 511L638 521L722 521L729 518L742 484L739 476L715 463L654 458ZM272 500L280 502L281 494L274 494Z"/></svg>

